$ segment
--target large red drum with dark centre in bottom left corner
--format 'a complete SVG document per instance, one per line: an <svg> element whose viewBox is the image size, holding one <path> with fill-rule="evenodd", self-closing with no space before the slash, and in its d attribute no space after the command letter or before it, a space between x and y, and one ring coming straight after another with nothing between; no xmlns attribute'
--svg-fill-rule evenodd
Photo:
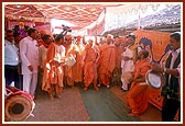
<svg viewBox="0 0 185 126"><path fill-rule="evenodd" d="M9 93L4 105L6 119L15 122L28 118L34 108L32 96L24 91Z"/></svg>

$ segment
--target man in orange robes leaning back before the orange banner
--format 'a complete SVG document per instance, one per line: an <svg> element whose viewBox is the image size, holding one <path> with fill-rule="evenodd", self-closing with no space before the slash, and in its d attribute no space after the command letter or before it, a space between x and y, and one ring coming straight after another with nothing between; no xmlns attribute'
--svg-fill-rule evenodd
<svg viewBox="0 0 185 126"><path fill-rule="evenodd" d="M148 50L142 49L139 51L138 61L129 79L131 88L126 95L126 100L131 112L128 116L138 116L148 108L148 84L145 83L145 73L151 69L148 56ZM124 79L126 78L122 78L123 81Z"/></svg>

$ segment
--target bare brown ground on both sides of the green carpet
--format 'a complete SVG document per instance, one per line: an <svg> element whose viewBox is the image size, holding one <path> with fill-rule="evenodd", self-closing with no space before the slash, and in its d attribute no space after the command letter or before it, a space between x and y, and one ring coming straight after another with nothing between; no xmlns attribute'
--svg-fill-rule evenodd
<svg viewBox="0 0 185 126"><path fill-rule="evenodd" d="M118 85L108 90L126 104L127 92L122 92ZM28 117L25 122L92 122L81 100L80 91L81 87L65 88L61 99L51 101L46 92L39 90L34 100L34 116ZM101 89L98 92L100 91ZM161 112L149 103L146 112L138 118L141 122L161 122Z"/></svg>

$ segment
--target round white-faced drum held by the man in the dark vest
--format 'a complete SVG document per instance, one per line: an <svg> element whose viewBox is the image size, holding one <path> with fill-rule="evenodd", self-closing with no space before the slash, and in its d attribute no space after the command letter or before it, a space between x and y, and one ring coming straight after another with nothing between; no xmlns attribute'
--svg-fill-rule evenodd
<svg viewBox="0 0 185 126"><path fill-rule="evenodd" d="M160 89L164 83L164 77L162 73L149 70L145 76L145 81L150 87Z"/></svg>

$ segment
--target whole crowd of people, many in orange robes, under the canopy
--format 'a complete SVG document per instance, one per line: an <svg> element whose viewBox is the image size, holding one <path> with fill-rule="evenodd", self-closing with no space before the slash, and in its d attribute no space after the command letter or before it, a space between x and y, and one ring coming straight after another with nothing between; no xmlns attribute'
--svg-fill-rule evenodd
<svg viewBox="0 0 185 126"><path fill-rule="evenodd" d="M21 36L13 30L6 31L4 38L4 80L11 85L29 92L33 98L36 88L48 92L51 100L61 98L66 87L80 84L84 91L91 85L96 91L100 87L119 85L127 92L130 108L128 116L138 116L148 108L146 71L152 69L166 75L162 90L165 98L162 107L162 121L173 121L179 110L181 77L181 34L170 36L172 51L176 53L174 65L172 55L166 66L151 64L149 49L135 43L135 35L123 36L73 36L67 33L51 35L28 28ZM74 57L74 66L65 65L67 57ZM175 103L175 108L173 106ZM173 111L172 111L173 110ZM178 117L179 118L179 117Z"/></svg>

